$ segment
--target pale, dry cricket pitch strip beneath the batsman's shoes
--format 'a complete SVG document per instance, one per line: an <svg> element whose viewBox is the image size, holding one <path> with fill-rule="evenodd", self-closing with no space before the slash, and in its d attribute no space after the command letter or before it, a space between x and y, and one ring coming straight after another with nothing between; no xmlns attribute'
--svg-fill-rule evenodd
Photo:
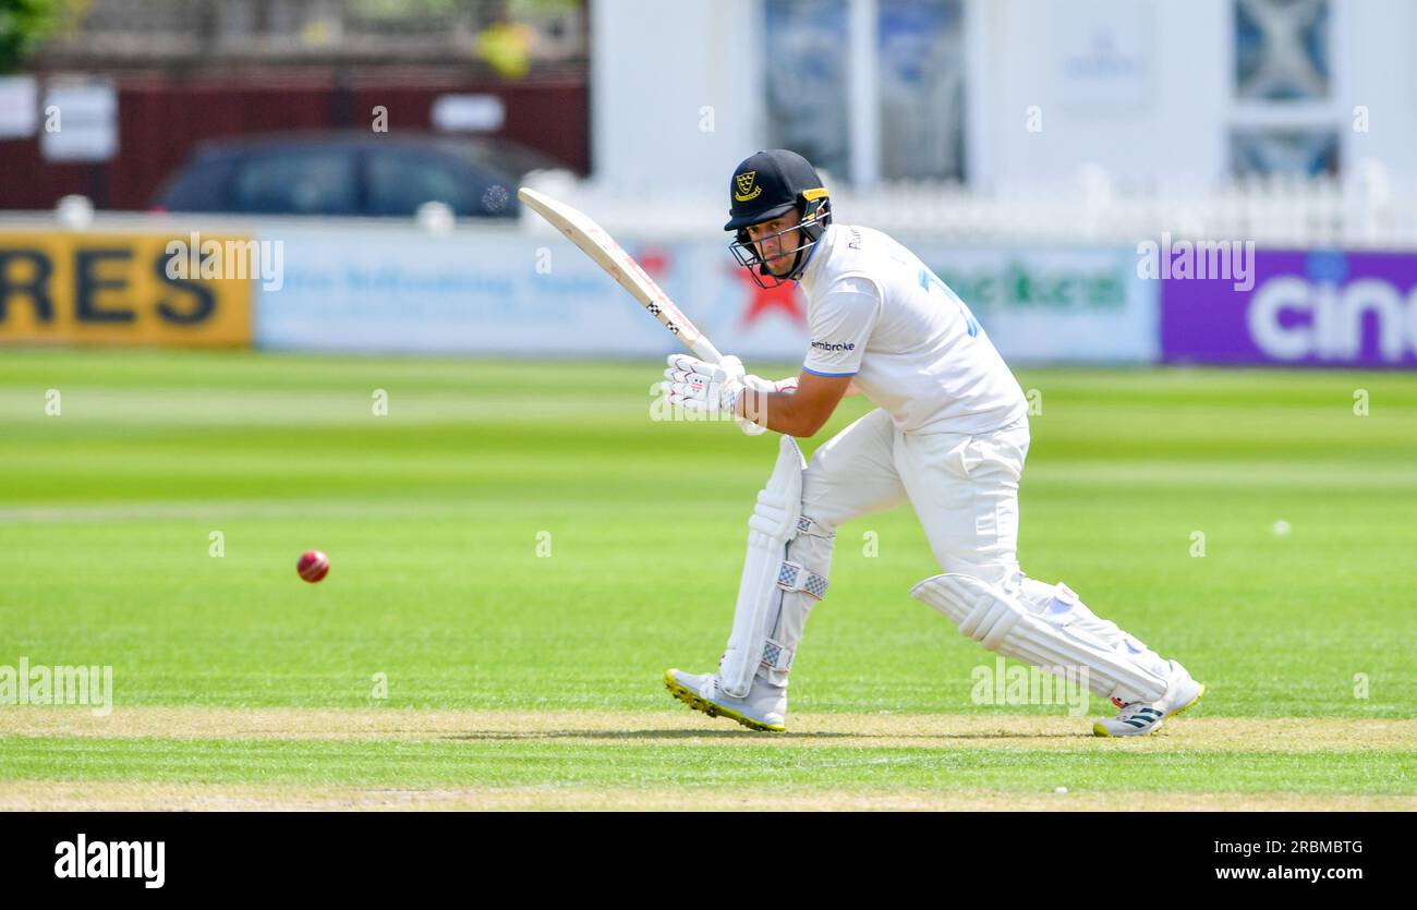
<svg viewBox="0 0 1417 910"><path fill-rule="evenodd" d="M78 707L9 707L0 709L0 811L1417 809L1407 777L1417 753L1414 720L1186 717L1135 740L1098 738L1090 726L1087 717L1063 716L803 713L791 719L788 733L762 734L673 710L120 706L98 717ZM408 750L427 753L429 764L400 764ZM105 751L112 754L91 758ZM748 771L682 785L665 780L667 764L696 751ZM1186 778L1175 788L1088 780L1067 792L1054 787L1078 780L1058 761L1095 767L1110 755L1155 763L1203 754L1223 770L1229 760L1321 764L1355 753L1396 761L1400 780L1387 780L1382 792L1284 792L1223 774ZM964 763L958 770L955 758ZM1030 760L1037 773L1020 771L1005 785L969 767L1002 761L1026 768L1034 765ZM547 761L642 765L659 774L529 778L526 767ZM928 780L863 784L849 767L837 767L859 765L864 774L911 761L949 768L944 775L935 768ZM765 777L761 764L781 767L782 784Z"/></svg>

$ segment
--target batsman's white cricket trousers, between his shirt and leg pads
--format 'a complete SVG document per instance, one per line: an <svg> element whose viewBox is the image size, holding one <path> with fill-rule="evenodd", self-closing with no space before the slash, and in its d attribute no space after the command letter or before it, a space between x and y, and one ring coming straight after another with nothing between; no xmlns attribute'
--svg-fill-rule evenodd
<svg viewBox="0 0 1417 910"><path fill-rule="evenodd" d="M802 515L835 530L908 500L941 570L1017 594L1019 478L1027 454L1027 417L993 432L905 434L877 408L812 454Z"/></svg>

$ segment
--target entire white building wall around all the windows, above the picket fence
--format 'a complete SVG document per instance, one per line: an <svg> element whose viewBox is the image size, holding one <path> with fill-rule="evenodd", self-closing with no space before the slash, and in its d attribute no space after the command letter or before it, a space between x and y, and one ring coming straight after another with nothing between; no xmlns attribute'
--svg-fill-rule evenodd
<svg viewBox="0 0 1417 910"><path fill-rule="evenodd" d="M1088 163L1138 189L1227 174L1230 128L1255 116L1234 101L1233 0L965 3L975 186L1017 190ZM1417 3L1331 10L1333 98L1306 116L1342 128L1349 173L1362 157L1417 173ZM597 181L721 196L733 166L765 145L761 0L592 0L591 30ZM1097 52L1098 41L1111 50ZM1078 61L1135 62L1139 75L1083 77ZM1034 105L1041 132L1026 128ZM1355 105L1367 105L1369 133L1352 130ZM699 130L704 106L711 133Z"/></svg>

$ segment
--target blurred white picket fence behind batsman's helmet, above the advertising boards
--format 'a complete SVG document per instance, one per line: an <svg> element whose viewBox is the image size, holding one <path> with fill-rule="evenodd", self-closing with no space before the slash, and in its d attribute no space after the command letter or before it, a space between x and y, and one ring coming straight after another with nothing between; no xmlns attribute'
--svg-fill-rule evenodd
<svg viewBox="0 0 1417 910"><path fill-rule="evenodd" d="M581 208L611 232L650 228L703 237L727 218L723 198L626 197L564 173L533 174L530 184ZM1374 163L1360 164L1342 180L1270 177L1213 189L1136 191L1087 170L1067 183L998 191L893 183L864 193L837 189L832 197L839 221L965 244L1134 245L1168 232L1173 240L1268 247L1417 249L1417 180Z"/></svg>

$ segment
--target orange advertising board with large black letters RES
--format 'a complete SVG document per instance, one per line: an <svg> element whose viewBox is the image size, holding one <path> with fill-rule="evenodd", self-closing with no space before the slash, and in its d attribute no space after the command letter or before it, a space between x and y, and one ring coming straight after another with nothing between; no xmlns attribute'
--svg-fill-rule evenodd
<svg viewBox="0 0 1417 910"><path fill-rule="evenodd" d="M248 346L252 282L174 274L170 241L0 232L0 343Z"/></svg>

